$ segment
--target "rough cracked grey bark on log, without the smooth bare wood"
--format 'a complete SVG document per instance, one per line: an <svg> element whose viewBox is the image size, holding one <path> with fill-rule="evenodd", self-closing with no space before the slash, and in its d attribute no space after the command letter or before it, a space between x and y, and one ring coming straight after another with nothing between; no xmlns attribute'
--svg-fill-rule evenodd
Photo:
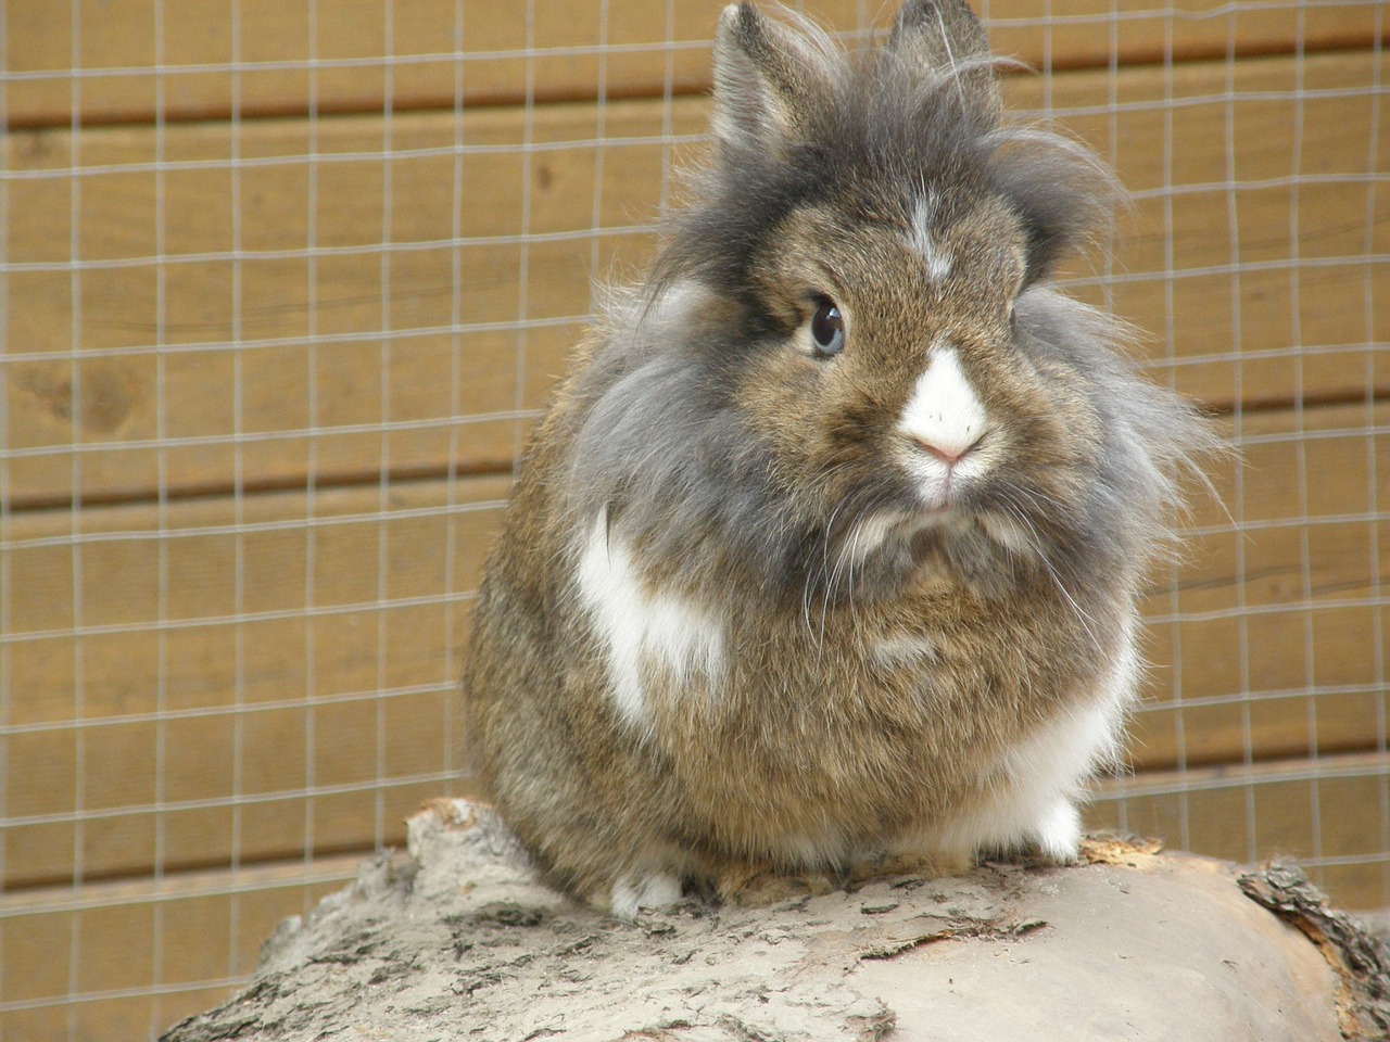
<svg viewBox="0 0 1390 1042"><path fill-rule="evenodd" d="M1094 838L1081 860L1083 864L1144 870L1159 863L1155 857L1158 847L1158 843L1136 842L1129 836ZM1177 856L1179 860L1186 857ZM1277 866L1264 874L1240 877L1234 866L1225 868L1229 870L1223 871L1225 878L1237 882L1241 892L1254 896L1266 910L1291 918L1300 928L1300 936L1311 941L1330 963L1323 1009L1329 1021L1332 1016L1337 1020L1327 1027L1347 1039L1383 1042L1390 1038L1382 1027L1390 1017L1386 1003L1390 979L1384 968L1390 959L1383 945L1344 914L1327 910L1322 895L1297 870ZM778 1042L792 1038L798 1042L824 1042L828 1038L881 1042L894 1032L898 1018L874 992L866 992L849 979L856 966L892 960L898 953L934 942L974 936L1008 943L1011 938L1033 934L1048 924L1036 913L1024 913L1027 902L1019 899L1041 885L1052 885L1048 879L1061 879L1066 873L986 864L969 878L955 881L929 882L906 877L874 881L862 888L781 904L784 913L799 916L799 928L778 923L777 906L689 906L644 916L635 927L623 929L641 935L639 945L632 950L638 950L648 963L659 964L663 975L678 971L691 963L694 953L706 950L706 939L733 939L739 946L753 939L777 946L760 960L771 957L773 950L785 954L791 948L796 953L784 970L776 971L776 979L760 981L756 974L748 974L739 982L741 989L727 999L719 996L692 1009L635 1009L624 1038L649 1042L774 1038ZM1261 893L1268 900L1261 899ZM448 914L434 906L434 902L445 899ZM418 914L421 902L423 917ZM813 921L806 921L808 909L813 910L809 916ZM830 913L837 909L838 917L831 921ZM423 939L424 943L398 945L391 934L403 920L424 921L432 932ZM556 925L564 927L557 936L535 943ZM531 963L537 963L537 979L543 981L541 986L549 986L557 979L553 966L564 970L570 966L567 960L585 957L591 946L594 956L605 960L605 952L613 949L609 939L614 934L613 925L592 910L578 909L560 895L538 888L516 841L488 809L461 800L441 800L411 818L409 857L392 860L384 854L373 859L361 867L353 886L327 898L306 918L288 920L267 942L247 991L215 1010L175 1025L164 1038L167 1042L299 1041L352 1031L371 1034L385 1027L356 1004L328 1010L334 1003L325 1000L320 991L324 985L339 995L350 995L353 1003L374 986L395 986L393 995L399 992L400 1009L413 1018L410 1024L414 1028L404 1028L406 1034L399 1038L438 1038L435 1025L443 1023L438 1018L450 1014L457 1018L456 1014L473 1003L474 991L481 996L503 978L524 975ZM464 961L468 964L464 966ZM436 982L424 992L414 986L431 968L441 967L448 975L443 986ZM651 966L644 973L649 970ZM808 975L802 977L802 973ZM588 975L578 979L585 989L589 988ZM720 984L727 982L720 970ZM1336 982L1343 984L1340 996ZM534 995L535 985L537 981L532 981L523 991ZM642 989L632 991L639 999L645 995ZM605 1000L589 1013L606 1013L609 1004ZM482 1014L484 1009L477 1011ZM575 1013L575 1009L566 1010L571 1018ZM788 1031L791 1021L784 1014L802 1020L809 1016L813 1027ZM468 1023L474 1031L478 1024L486 1024L488 1029L499 1027L486 1018ZM617 1021L605 1023L612 1027ZM624 1018L623 1024L627 1023ZM418 1034L421 1028L424 1034ZM541 1024L525 1031L503 1031L496 1036L520 1039L545 1034L546 1028ZM577 1039L598 1036L574 1032ZM602 1036L610 1038L609 1034Z"/></svg>

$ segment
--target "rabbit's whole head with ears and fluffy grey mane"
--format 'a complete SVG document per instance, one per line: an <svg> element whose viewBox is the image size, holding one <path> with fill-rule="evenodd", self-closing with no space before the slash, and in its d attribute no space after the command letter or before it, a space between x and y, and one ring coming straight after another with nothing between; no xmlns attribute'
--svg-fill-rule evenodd
<svg viewBox="0 0 1390 1042"><path fill-rule="evenodd" d="M1133 589L1201 435L1051 288L1115 192L1001 121L997 64L962 0L909 0L858 56L724 11L712 168L575 383L569 502L648 570L828 602L923 567Z"/></svg>

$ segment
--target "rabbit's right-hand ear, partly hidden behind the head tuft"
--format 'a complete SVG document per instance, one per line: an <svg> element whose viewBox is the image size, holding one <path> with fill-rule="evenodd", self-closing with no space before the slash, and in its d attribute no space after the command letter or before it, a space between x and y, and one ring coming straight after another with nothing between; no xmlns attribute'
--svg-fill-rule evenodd
<svg viewBox="0 0 1390 1042"><path fill-rule="evenodd" d="M998 117L1004 108L990 40L966 0L906 0L888 50L923 71L952 76L987 114Z"/></svg>

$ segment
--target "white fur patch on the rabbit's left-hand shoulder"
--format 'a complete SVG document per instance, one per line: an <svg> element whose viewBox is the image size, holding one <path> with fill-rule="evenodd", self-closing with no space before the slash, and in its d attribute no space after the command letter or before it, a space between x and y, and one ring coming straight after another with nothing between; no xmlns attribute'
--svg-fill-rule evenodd
<svg viewBox="0 0 1390 1042"><path fill-rule="evenodd" d="M609 693L619 716L651 727L644 675L652 667L680 689L696 675L714 679L724 668L721 621L684 597L651 590L637 574L627 543L609 535L600 511L580 559L580 596L607 650Z"/></svg>

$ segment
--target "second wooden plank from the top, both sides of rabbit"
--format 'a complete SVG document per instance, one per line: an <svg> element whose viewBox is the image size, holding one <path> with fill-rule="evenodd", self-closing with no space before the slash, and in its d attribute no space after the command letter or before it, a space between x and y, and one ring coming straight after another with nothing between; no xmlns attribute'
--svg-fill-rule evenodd
<svg viewBox="0 0 1390 1042"><path fill-rule="evenodd" d="M1230 96L1218 64L1049 81L1138 193L1115 265L1074 292L1145 329L1161 378L1218 406L1390 390L1390 108L1366 93L1386 61L1244 61ZM1040 111L1044 86L1016 82L1015 107ZM235 142L202 124L164 132L188 165L163 175L150 128L85 132L78 154L64 132L11 135L11 168L51 176L6 185L8 257L28 265L6 325L10 502L506 465L591 278L651 257L663 132L703 125L702 100L669 119L660 101L353 117L313 142L304 121ZM76 196L74 160L95 171Z"/></svg>

